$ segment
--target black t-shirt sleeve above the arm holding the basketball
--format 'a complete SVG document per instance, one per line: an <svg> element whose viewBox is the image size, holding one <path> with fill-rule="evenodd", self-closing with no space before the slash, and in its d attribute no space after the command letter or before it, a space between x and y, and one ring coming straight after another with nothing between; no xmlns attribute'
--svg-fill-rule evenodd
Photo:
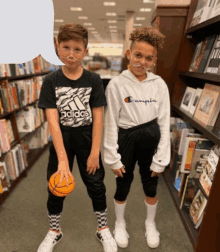
<svg viewBox="0 0 220 252"><path fill-rule="evenodd" d="M45 78L41 87L38 107L45 108L57 108L55 89L50 79Z"/></svg>

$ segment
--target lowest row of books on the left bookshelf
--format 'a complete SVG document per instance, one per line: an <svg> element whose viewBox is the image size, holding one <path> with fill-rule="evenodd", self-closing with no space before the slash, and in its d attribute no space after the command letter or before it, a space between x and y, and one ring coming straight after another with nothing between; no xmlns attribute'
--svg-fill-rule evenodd
<svg viewBox="0 0 220 252"><path fill-rule="evenodd" d="M28 154L30 151L43 148L48 144L48 139L48 123L44 122L42 127L37 130L36 134L30 139L17 144L1 158L0 193L8 191L12 182L26 169L29 162Z"/></svg>

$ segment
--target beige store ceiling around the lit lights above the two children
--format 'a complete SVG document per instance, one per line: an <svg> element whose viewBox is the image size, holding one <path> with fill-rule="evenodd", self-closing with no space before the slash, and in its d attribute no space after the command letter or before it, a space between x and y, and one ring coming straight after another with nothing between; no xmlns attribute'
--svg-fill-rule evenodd
<svg viewBox="0 0 220 252"><path fill-rule="evenodd" d="M147 1L149 3L146 3ZM105 6L104 2L114 2L115 6ZM87 29L93 28L93 30L89 30L89 43L123 43L126 11L135 12L135 24L146 26L150 25L155 9L154 0L53 0L53 4L54 20L63 20L63 22L54 22L54 31L58 31L61 24L67 23L78 23ZM71 11L71 7L78 7L82 10ZM141 12L141 8L151 8L151 11ZM116 16L107 16L107 12L116 13ZM79 19L79 17L88 19ZM137 17L145 17L145 20L136 20ZM108 23L110 20L116 20L116 23ZM134 26L134 28L141 26ZM57 33L54 35L56 36Z"/></svg>

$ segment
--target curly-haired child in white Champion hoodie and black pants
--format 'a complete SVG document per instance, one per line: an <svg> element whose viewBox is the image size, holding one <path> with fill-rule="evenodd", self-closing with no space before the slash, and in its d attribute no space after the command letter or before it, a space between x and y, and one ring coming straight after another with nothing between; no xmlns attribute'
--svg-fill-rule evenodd
<svg viewBox="0 0 220 252"><path fill-rule="evenodd" d="M145 236L148 246L156 248L160 241L155 225L158 176L170 161L170 100L166 83L149 70L163 47L164 35L143 27L135 29L130 40L126 52L130 68L106 88L102 156L116 177L114 234L118 246L128 246L124 211L138 161L146 195Z"/></svg>

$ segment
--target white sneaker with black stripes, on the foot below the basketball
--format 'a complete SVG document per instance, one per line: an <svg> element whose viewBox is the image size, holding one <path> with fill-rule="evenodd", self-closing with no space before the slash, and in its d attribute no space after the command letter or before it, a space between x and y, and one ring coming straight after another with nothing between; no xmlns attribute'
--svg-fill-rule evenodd
<svg viewBox="0 0 220 252"><path fill-rule="evenodd" d="M53 247L63 238L63 233L59 234L49 230L44 240L41 242L37 252L52 252Z"/></svg>

